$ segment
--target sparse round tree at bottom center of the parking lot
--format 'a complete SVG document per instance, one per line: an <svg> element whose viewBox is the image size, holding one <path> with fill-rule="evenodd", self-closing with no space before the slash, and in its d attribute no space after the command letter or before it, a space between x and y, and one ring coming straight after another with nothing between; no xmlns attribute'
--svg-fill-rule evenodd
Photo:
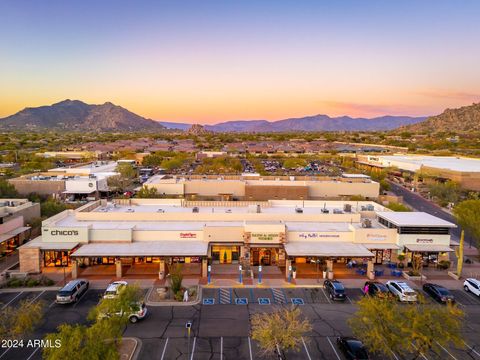
<svg viewBox="0 0 480 360"><path fill-rule="evenodd" d="M312 330L310 321L302 316L298 307L255 314L251 326L251 337L258 341L263 355L282 356L286 350L298 351L303 336Z"/></svg>

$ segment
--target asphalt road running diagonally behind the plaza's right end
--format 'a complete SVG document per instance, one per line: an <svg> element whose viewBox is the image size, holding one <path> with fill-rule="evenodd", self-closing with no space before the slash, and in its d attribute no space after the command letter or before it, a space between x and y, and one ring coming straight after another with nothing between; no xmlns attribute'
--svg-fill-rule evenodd
<svg viewBox="0 0 480 360"><path fill-rule="evenodd" d="M444 211L438 205L425 199L421 195L411 192L407 188L401 185L398 185L392 181L389 181L389 183L390 183L390 191L392 191L397 196L402 196L404 203L411 206L415 210L426 212L430 215L434 215L436 217L439 217L440 219L456 224L457 228L452 229L451 234L455 240L460 239L461 229L460 227L458 227L455 217L453 217L448 212ZM465 235L465 244L474 245L475 243L473 242L473 239L471 239L471 237L469 237L468 235Z"/></svg>

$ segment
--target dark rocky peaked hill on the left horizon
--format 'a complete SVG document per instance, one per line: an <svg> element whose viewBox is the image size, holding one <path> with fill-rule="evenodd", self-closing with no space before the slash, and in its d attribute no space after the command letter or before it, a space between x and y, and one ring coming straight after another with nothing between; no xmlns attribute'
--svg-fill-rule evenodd
<svg viewBox="0 0 480 360"><path fill-rule="evenodd" d="M165 127L110 102L90 105L78 100L65 100L50 106L25 108L14 115L0 119L0 129L150 131L164 130Z"/></svg>

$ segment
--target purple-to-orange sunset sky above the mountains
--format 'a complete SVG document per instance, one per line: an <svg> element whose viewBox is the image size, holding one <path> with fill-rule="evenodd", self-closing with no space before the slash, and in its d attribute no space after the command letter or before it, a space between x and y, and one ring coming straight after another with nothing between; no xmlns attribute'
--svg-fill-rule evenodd
<svg viewBox="0 0 480 360"><path fill-rule="evenodd" d="M0 117L78 99L155 120L431 115L480 101L480 1L0 2Z"/></svg>

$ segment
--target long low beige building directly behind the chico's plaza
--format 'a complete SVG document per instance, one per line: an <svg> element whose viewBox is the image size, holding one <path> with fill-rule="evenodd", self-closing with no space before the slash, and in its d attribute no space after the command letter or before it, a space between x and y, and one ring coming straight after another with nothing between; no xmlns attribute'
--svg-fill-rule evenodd
<svg viewBox="0 0 480 360"><path fill-rule="evenodd" d="M376 199L378 182L362 174L328 176L158 175L144 186L189 200L317 200L364 196Z"/></svg>

